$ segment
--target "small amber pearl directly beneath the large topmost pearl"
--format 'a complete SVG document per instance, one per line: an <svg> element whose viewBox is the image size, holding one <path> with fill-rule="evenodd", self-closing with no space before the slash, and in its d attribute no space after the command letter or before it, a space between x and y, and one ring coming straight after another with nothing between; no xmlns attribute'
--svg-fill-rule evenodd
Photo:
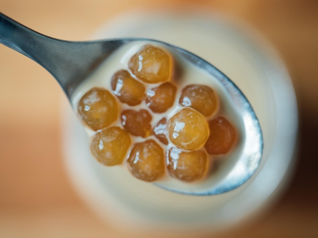
<svg viewBox="0 0 318 238"><path fill-rule="evenodd" d="M167 111L174 103L177 88L166 82L158 87L148 90L146 105L157 113Z"/></svg>

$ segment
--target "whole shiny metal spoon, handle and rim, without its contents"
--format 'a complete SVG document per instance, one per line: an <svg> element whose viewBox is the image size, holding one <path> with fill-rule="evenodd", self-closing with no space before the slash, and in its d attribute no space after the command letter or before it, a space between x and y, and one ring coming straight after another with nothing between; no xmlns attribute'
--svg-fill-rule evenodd
<svg viewBox="0 0 318 238"><path fill-rule="evenodd" d="M244 184L260 165L263 137L259 121L251 105L237 86L222 72L200 57L167 43L141 38L106 39L70 42L35 32L0 13L0 43L29 57L47 69L60 84L69 100L86 77L120 46L133 41L160 43L184 59L213 75L228 92L242 118L245 142L232 170L211 187L184 190L156 184L164 189L188 195L213 195L233 190Z"/></svg>

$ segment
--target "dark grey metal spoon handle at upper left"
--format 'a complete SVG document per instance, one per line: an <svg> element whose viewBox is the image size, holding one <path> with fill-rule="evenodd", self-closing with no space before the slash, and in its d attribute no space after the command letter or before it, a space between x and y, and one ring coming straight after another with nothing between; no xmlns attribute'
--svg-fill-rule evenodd
<svg viewBox="0 0 318 238"><path fill-rule="evenodd" d="M31 30L2 13L0 43L42 65L69 98L83 78L112 51L112 41L62 41Z"/></svg>

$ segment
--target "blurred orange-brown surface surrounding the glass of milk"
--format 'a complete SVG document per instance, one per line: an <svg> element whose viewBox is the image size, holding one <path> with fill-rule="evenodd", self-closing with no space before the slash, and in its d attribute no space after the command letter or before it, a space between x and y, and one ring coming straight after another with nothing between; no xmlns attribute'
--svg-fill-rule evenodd
<svg viewBox="0 0 318 238"><path fill-rule="evenodd" d="M193 6L265 35L290 70L299 104L299 160L289 188L258 220L213 237L318 237L318 1L0 0L0 12L24 25L80 41L132 9ZM132 237L99 220L73 189L61 148L62 97L45 69L0 45L0 237Z"/></svg>

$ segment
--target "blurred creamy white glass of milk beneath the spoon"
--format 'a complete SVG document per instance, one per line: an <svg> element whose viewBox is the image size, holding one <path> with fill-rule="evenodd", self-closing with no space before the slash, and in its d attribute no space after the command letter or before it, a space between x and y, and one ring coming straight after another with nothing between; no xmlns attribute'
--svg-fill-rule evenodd
<svg viewBox="0 0 318 238"><path fill-rule="evenodd" d="M134 13L102 29L98 38L155 38L194 52L219 68L238 85L259 118L264 137L261 166L241 187L214 196L168 192L130 173L118 178L116 168L92 158L86 132L68 108L63 131L71 179L87 204L119 227L161 231L229 227L266 208L290 174L297 107L289 75L259 37L249 38L246 30L200 15Z"/></svg>

